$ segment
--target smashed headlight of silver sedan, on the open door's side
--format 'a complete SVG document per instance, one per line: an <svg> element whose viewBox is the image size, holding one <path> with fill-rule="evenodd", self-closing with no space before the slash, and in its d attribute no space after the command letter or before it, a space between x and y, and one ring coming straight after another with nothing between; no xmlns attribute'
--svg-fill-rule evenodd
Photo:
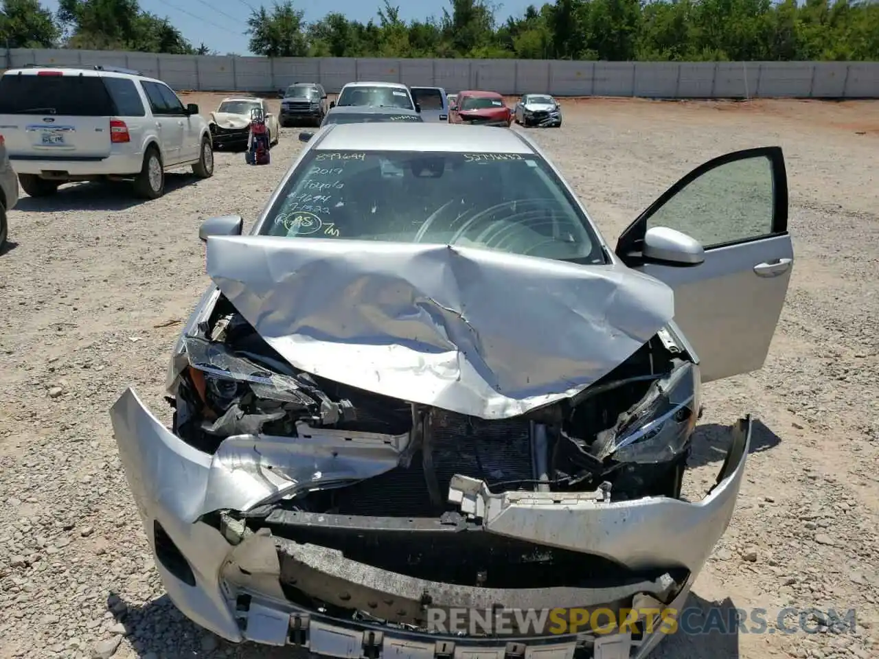
<svg viewBox="0 0 879 659"><path fill-rule="evenodd" d="M672 371L654 382L613 428L599 433L592 452L599 460L636 464L671 461L689 443L700 400L699 366L675 360Z"/></svg>

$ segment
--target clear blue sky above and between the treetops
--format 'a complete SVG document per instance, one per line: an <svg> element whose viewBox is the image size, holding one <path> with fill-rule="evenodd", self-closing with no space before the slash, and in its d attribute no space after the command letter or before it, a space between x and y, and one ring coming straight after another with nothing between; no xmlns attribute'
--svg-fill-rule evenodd
<svg viewBox="0 0 879 659"><path fill-rule="evenodd" d="M51 11L58 10L57 0L40 0ZM149 11L160 17L167 17L193 46L204 42L220 54L251 54L247 46L247 18L251 8L265 4L272 7L272 0L139 0L142 11ZM405 21L439 17L448 6L440 0L393 0L400 7L400 18ZM496 18L505 21L509 16L518 16L528 4L542 4L535 0L505 0L498 2ZM345 14L349 19L366 23L376 18L382 0L294 0L294 5L305 11L308 22L323 18L331 11ZM213 8L213 11L211 10Z"/></svg>

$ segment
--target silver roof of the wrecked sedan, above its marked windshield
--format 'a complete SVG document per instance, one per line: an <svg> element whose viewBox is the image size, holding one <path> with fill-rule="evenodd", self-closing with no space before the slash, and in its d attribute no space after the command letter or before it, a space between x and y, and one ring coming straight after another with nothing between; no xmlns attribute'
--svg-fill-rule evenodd
<svg viewBox="0 0 879 659"><path fill-rule="evenodd" d="M436 151L534 154L509 128L445 123L331 124L313 147L320 151Z"/></svg>

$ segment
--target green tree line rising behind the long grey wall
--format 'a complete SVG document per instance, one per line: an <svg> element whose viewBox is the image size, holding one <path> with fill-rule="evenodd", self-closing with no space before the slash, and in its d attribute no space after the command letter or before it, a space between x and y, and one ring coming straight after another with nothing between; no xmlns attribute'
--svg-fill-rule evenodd
<svg viewBox="0 0 879 659"><path fill-rule="evenodd" d="M39 0L2 5L6 47L215 54L137 0L60 0L54 14ZM282 0L252 11L244 33L253 53L287 57L879 60L877 0L556 0L505 22L495 14L489 0L448 0L439 17L406 22L384 0L366 24L338 12L308 23Z"/></svg>

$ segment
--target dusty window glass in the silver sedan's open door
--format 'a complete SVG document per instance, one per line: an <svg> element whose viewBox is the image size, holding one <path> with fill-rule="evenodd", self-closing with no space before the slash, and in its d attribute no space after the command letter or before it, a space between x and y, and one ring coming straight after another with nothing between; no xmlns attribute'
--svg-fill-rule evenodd
<svg viewBox="0 0 879 659"><path fill-rule="evenodd" d="M770 159L744 158L695 178L650 215L646 228L673 228L706 248L737 243L773 233L774 202Z"/></svg>

